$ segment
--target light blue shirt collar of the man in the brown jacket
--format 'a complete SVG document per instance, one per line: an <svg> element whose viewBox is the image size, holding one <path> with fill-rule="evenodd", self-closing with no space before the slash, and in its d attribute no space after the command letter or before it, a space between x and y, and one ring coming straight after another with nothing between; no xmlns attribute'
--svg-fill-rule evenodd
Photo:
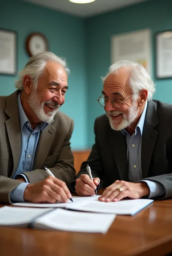
<svg viewBox="0 0 172 256"><path fill-rule="evenodd" d="M30 125L30 122L29 122L29 120L28 120L28 118L25 114L25 111L24 111L22 105L21 105L20 94L21 93L19 93L19 95L17 97L17 101L18 101L18 106L19 106L20 126L21 126L21 130L22 130L25 123L29 123L29 125ZM39 130L44 130L47 125L48 125L48 122L40 122L39 123L39 128L40 128ZM29 127L31 129L31 125Z"/></svg>

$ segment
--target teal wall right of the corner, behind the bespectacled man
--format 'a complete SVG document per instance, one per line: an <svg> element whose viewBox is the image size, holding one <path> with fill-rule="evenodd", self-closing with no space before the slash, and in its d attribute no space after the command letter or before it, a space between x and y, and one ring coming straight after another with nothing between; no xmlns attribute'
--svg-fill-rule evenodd
<svg viewBox="0 0 172 256"><path fill-rule="evenodd" d="M104 113L97 99L102 91L101 76L105 76L111 65L111 36L145 28L152 30L152 46L154 46L155 32L172 29L172 0L150 0L86 20L89 146L94 143L94 120ZM154 60L154 47L152 57ZM154 98L172 103L172 79L156 80L154 62L153 79L156 83Z"/></svg>

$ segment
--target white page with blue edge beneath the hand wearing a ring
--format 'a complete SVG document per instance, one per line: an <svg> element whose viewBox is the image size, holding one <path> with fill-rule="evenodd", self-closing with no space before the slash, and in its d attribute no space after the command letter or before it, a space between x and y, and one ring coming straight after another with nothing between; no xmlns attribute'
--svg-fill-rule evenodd
<svg viewBox="0 0 172 256"><path fill-rule="evenodd" d="M123 199L119 202L100 202L95 198L92 201L87 200L70 204L68 208L104 214L134 215L152 202L152 199Z"/></svg>

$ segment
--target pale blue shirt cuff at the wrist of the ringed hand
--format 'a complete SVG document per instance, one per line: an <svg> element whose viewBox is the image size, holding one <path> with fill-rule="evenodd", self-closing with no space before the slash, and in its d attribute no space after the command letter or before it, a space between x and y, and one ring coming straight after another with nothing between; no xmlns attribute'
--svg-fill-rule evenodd
<svg viewBox="0 0 172 256"><path fill-rule="evenodd" d="M141 182L146 182L149 189L150 189L150 195L148 198L154 198L157 196L161 196L164 194L164 187L159 183L151 180L140 180Z"/></svg>

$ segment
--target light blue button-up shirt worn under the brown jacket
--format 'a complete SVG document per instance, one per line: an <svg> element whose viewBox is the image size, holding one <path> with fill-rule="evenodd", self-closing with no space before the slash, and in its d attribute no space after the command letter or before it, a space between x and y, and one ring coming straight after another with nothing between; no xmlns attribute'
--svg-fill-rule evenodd
<svg viewBox="0 0 172 256"><path fill-rule="evenodd" d="M21 178L21 175L25 178L26 182L21 183L10 193L10 199L12 202L24 202L23 195L26 186L29 184L28 178L23 173L33 170L34 158L36 155L36 148L40 137L40 131L43 130L48 123L40 122L34 130L31 129L30 122L26 117L26 114L22 108L20 94L18 95L18 106L21 126L21 150L19 165L12 179Z"/></svg>

